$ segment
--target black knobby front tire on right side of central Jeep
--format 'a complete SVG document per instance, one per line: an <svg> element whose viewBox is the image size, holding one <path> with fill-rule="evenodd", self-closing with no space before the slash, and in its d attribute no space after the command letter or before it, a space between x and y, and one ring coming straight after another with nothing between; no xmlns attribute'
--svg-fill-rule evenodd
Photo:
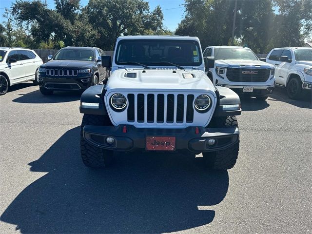
<svg viewBox="0 0 312 234"><path fill-rule="evenodd" d="M215 128L233 128L238 127L238 122L235 116L217 117L212 119L212 126ZM212 127L211 126L211 127ZM239 151L239 141L231 147L215 151L202 153L206 166L213 170L227 170L234 167Z"/></svg>

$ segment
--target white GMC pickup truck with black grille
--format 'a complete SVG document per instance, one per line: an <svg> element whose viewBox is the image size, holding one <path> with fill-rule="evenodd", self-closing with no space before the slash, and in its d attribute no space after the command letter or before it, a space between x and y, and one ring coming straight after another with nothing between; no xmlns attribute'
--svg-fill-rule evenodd
<svg viewBox="0 0 312 234"><path fill-rule="evenodd" d="M215 67L206 70L215 86L238 94L267 99L274 89L274 66L260 61L254 52L241 46L209 46L204 57L215 57Z"/></svg>

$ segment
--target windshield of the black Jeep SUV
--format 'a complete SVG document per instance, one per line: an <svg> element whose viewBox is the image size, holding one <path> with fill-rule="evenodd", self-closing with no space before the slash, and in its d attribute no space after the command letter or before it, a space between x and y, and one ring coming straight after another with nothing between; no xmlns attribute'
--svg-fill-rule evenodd
<svg viewBox="0 0 312 234"><path fill-rule="evenodd" d="M92 50L60 50L53 60L94 61L94 53Z"/></svg>

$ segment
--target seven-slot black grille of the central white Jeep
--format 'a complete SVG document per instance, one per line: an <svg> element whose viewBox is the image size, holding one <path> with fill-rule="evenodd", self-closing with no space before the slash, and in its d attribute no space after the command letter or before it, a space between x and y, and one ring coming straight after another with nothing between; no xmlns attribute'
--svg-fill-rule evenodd
<svg viewBox="0 0 312 234"><path fill-rule="evenodd" d="M194 95L128 94L128 122L192 123Z"/></svg>

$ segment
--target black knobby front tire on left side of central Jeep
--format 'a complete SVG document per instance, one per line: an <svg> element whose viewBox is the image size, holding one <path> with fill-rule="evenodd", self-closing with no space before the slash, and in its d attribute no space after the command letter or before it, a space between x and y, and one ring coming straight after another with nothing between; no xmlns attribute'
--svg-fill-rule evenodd
<svg viewBox="0 0 312 234"><path fill-rule="evenodd" d="M80 152L84 165L93 168L104 168L112 163L113 151L104 150L89 144L82 135L82 130L85 125L109 125L107 118L96 115L83 115L81 130L80 130Z"/></svg>

